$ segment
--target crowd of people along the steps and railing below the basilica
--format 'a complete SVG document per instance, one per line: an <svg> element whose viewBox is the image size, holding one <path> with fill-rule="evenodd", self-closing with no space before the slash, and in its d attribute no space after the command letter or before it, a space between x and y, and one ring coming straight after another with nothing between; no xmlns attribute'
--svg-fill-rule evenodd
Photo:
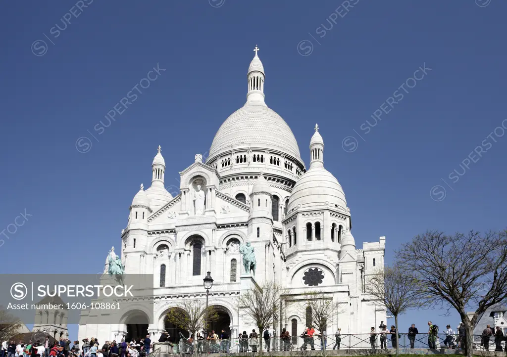
<svg viewBox="0 0 507 357"><path fill-rule="evenodd" d="M407 337L410 342L410 348L414 348L416 340L421 342L421 336L427 335L427 346L428 348L442 348L440 340L443 340L444 348L451 349L466 349L466 330L463 323L459 323L456 328L456 332L452 330L450 325L446 326L445 339L440 338L443 334L439 334L439 327L428 321L428 331L419 333L417 327L412 324L408 329ZM370 345L372 349L387 348L388 339L390 339L392 348L396 348L396 335L401 339L402 335L396 331L396 328L391 325L390 329L384 325L381 321L378 330L375 327L371 328L370 331ZM439 336L440 335L440 336ZM352 335L351 335L352 336ZM159 342L168 342L169 333L163 331L159 339ZM179 342L176 344L171 343L173 347L173 353L180 354L191 354L194 353L194 348L197 349L197 353L216 353L216 352L230 352L233 341L237 344L237 351L239 352L257 352L260 348L260 343L264 342L264 350L283 350L289 351L294 348L295 339L301 339L301 350L315 349L315 342L317 341L320 349L327 349L328 336L325 331L318 333L314 327L305 327L303 333L298 336L291 336L291 334L284 328L282 329L279 336L276 332L269 328L269 326L263 331L263 333L257 333L255 329L249 334L246 331L240 333L237 339L231 339L227 331L222 330L221 334L215 333L214 330L209 332L202 331L197 333L196 336L191 335L189 338L185 338L182 333L179 333ZM504 350L507 352L507 336L503 335L500 327L496 329L491 328L490 325L483 330L480 336L481 348L489 350L491 346L491 339L493 339L495 345L495 351ZM342 341L341 329L339 328L334 335L333 349L340 349ZM380 341L380 346L378 345ZM502 342L505 341L505 347L502 349ZM71 346L72 344L72 346ZM297 343L296 343L297 345ZM0 357L147 357L152 349L152 341L150 336L136 341L135 339L126 342L122 339L120 342L117 341L105 341L100 347L99 341L96 338L85 338L82 343L74 341L71 343L68 338L60 338L59 341L50 341L49 336L46 337L44 342L32 342L31 340L24 344L18 343L14 340L8 340L2 342L2 348L0 349ZM421 346L422 347L422 346ZM236 351L236 349L235 349Z"/></svg>

